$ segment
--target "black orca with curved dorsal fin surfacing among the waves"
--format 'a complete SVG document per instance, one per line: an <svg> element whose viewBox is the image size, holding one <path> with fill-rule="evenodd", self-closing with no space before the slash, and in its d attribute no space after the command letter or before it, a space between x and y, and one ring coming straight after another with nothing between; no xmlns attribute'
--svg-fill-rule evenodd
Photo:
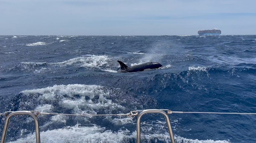
<svg viewBox="0 0 256 143"><path fill-rule="evenodd" d="M146 62L143 64L139 64L139 65L134 65L134 66L127 66L126 64L124 64L121 61L117 61L120 64L120 71L121 72L137 72L137 71L145 71L148 69L153 69L153 68L160 68L162 67L161 64L159 64L158 62Z"/></svg>

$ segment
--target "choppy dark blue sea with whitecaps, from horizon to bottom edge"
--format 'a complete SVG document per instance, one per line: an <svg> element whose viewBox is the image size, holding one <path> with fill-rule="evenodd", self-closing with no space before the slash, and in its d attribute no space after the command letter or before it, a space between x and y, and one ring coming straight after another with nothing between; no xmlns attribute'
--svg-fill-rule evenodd
<svg viewBox="0 0 256 143"><path fill-rule="evenodd" d="M163 67L123 73L117 60ZM0 113L141 109L256 113L256 35L0 36ZM256 142L256 115L168 116L177 143ZM136 141L137 117L38 118L43 143ZM141 132L144 143L171 142L160 114L143 116ZM6 141L35 142L34 120L12 117Z"/></svg>

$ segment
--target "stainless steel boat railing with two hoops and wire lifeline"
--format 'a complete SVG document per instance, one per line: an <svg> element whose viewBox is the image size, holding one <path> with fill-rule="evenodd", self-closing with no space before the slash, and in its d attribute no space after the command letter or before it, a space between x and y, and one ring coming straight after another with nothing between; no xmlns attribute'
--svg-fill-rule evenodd
<svg viewBox="0 0 256 143"><path fill-rule="evenodd" d="M168 109L147 109L147 110L130 111L130 113L127 113L127 114L96 114L96 115L40 113L38 111L8 111L8 112L4 112L4 113L0 114L0 115L3 115L3 116L6 117L1 143L5 143L5 139L6 139L6 135L7 135L7 131L8 131L8 126L9 126L9 123L10 123L10 119L14 115L30 115L31 117L33 117L33 119L35 121L36 143L40 143L40 129L39 129L39 122L38 122L38 118L37 118L37 116L40 115L40 114L46 114L46 115L72 115L72 116L128 116L128 117L136 117L136 116L138 116L137 124L136 124L136 128L137 128L136 143L139 143L140 142L140 135L141 135L141 132L140 132L140 123L141 123L140 121L141 121L141 118L145 114L152 114L152 113L160 113L160 114L162 114L165 117L166 124L167 124L167 127L168 127L168 131L169 131L169 135L170 135L172 143L175 143L175 140L174 140L174 135L173 135L173 132L172 132L172 129L171 129L171 123L170 123L168 114L172 114L172 113L191 114L191 113L193 113L193 114L249 114L249 115L256 115L256 113L184 112L184 111L171 111L171 110L168 110Z"/></svg>

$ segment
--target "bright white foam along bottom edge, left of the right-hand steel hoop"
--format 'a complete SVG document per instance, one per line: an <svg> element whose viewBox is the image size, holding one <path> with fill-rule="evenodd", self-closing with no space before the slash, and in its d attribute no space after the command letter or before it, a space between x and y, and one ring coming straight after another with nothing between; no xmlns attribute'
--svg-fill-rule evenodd
<svg viewBox="0 0 256 143"><path fill-rule="evenodd" d="M66 126L61 129L47 130L45 132L40 132L41 142L44 143L59 143L59 142L111 142L119 143L127 138L134 138L133 135L126 135L129 130L119 130L118 132L113 132L111 130L106 130L104 127L100 126L81 126L77 124L76 126ZM35 134L35 133L34 133ZM20 142L34 142L36 137L34 134L27 135L26 138L19 138L16 141L11 141L9 143L20 143Z"/></svg>

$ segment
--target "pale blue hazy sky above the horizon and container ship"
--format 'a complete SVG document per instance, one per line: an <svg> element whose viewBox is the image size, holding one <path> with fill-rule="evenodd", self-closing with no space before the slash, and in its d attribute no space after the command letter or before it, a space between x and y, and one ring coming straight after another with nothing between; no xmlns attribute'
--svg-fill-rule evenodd
<svg viewBox="0 0 256 143"><path fill-rule="evenodd" d="M255 0L0 0L0 35L256 35Z"/></svg>

